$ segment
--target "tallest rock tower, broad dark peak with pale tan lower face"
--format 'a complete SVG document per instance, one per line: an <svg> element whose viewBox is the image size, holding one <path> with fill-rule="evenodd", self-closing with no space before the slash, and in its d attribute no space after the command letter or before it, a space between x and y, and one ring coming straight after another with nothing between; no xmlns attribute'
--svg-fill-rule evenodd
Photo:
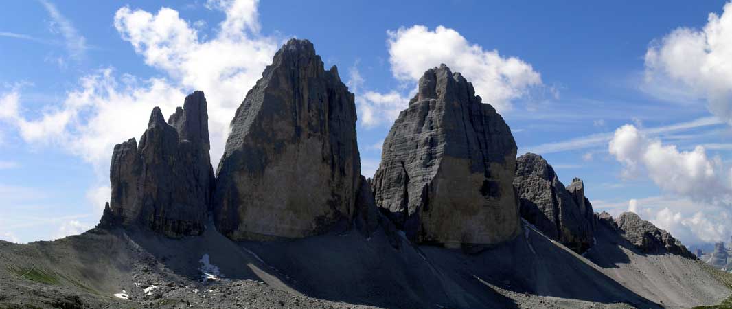
<svg viewBox="0 0 732 309"><path fill-rule="evenodd" d="M319 234L351 220L360 170L354 94L290 40L231 121L214 221L231 239Z"/></svg>

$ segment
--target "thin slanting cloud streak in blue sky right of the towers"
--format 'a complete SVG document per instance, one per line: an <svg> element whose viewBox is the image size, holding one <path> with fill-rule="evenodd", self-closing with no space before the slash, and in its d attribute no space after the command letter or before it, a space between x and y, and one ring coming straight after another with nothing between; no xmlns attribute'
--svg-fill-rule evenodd
<svg viewBox="0 0 732 309"><path fill-rule="evenodd" d="M697 127L708 127L712 125L722 124L717 117L703 117L694 119L690 122L679 122L662 127L651 127L643 130L649 135L660 135L663 133L671 133L683 130L690 130ZM540 155L546 155L556 152L567 152L578 149L589 149L593 147L607 146L608 142L613 138L613 133L597 133L592 135L572 138L567 141L557 141L552 143L539 144L521 149L522 152L534 152Z"/></svg>

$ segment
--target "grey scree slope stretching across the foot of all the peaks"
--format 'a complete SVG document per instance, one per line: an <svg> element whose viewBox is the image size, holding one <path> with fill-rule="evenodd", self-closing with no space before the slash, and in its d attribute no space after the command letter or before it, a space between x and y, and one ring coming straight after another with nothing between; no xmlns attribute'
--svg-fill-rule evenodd
<svg viewBox="0 0 732 309"><path fill-rule="evenodd" d="M231 242L210 229L184 239L94 229L56 242L1 242L0 308L684 308L679 299L713 305L729 294L711 267L683 264L683 288L649 286L669 279L618 272L668 273L657 265L678 257L602 267L526 229L472 255L406 239L392 247L382 231Z"/></svg>

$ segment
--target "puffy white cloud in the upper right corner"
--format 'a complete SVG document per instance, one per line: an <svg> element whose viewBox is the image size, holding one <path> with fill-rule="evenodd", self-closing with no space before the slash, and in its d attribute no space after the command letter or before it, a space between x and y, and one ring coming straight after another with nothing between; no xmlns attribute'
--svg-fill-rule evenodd
<svg viewBox="0 0 732 309"><path fill-rule="evenodd" d="M732 3L709 13L702 29L681 27L651 43L646 86L660 97L703 98L709 111L732 124ZM663 86L671 85L671 86Z"/></svg>

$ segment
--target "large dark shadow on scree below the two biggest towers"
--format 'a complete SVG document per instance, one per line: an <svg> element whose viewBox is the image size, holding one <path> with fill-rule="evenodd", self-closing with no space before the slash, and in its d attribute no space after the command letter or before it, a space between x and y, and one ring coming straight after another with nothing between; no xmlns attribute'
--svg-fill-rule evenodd
<svg viewBox="0 0 732 309"><path fill-rule="evenodd" d="M395 249L382 230L370 239L351 231L240 245L290 275L304 294L323 299L397 308L518 308L496 286L518 293L660 308L533 230L476 255L414 247L406 240Z"/></svg>

